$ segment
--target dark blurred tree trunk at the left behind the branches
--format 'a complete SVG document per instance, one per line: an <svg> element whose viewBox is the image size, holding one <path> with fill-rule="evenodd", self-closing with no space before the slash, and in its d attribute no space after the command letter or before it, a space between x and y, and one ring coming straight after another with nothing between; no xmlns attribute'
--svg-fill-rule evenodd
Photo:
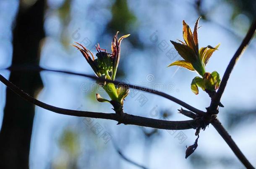
<svg viewBox="0 0 256 169"><path fill-rule="evenodd" d="M27 1L28 2L28 1ZM19 6L13 30L12 65L39 64L40 40L44 38L44 0ZM39 73L11 72L10 81L35 96L42 87ZM0 169L28 169L34 105L7 88L0 132Z"/></svg>

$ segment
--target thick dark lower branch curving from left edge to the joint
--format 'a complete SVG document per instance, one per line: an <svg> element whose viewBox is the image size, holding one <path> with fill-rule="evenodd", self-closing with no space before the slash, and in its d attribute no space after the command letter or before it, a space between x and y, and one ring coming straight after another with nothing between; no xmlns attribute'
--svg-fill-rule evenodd
<svg viewBox="0 0 256 169"><path fill-rule="evenodd" d="M195 126L198 125L198 121L196 120L187 120L187 121L166 121L166 120L157 120L151 119L141 116L133 116L131 114L124 114L121 117L119 114L109 114L109 113L97 113L97 112L90 112L90 111L77 111L77 110L70 110L65 108L58 108L55 106L51 106L49 104L43 103L25 93L13 83L8 81L2 75L0 75L0 81L4 83L8 88L10 88L13 92L24 98L25 100L33 103L39 107L44 109L53 111L58 114L65 114L70 116L78 116L78 117L90 117L90 118L99 118L99 119L110 119L115 120L123 124L133 124L137 126L145 126L145 127L152 127L157 129L167 129L167 130L185 130L185 129L193 129Z"/></svg>

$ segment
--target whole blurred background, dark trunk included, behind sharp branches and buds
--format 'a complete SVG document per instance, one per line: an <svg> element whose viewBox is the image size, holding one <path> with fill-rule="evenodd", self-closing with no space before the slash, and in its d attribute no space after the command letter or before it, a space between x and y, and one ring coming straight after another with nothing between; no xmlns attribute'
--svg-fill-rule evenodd
<svg viewBox="0 0 256 169"><path fill-rule="evenodd" d="M53 72L13 72L13 65L93 74L71 46L80 42L111 51L113 35L130 33L121 46L118 80L164 91L205 110L209 96L191 92L196 73L167 65L180 58L170 40L182 39L182 20L199 25L199 47L221 43L206 66L221 77L253 18L255 0L0 0L0 73L40 101L84 111L113 113L96 101L104 92L95 81ZM230 76L219 119L256 166L256 41L252 40ZM165 98L131 90L124 111L157 119L186 120L180 106ZM115 121L55 114L23 101L0 83L1 165L30 169L240 169L243 165L210 125L199 147L185 159L194 130L166 131L116 125ZM98 130L95 130L98 127Z"/></svg>

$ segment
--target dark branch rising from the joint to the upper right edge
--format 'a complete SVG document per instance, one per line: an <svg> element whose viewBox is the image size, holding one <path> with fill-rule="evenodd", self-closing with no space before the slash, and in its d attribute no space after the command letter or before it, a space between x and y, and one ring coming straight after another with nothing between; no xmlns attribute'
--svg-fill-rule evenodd
<svg viewBox="0 0 256 169"><path fill-rule="evenodd" d="M238 50L235 52L234 56L232 57L230 63L227 66L227 69L224 73L222 81L219 85L219 89L218 89L217 93L214 95L214 97L211 101L211 105L209 107L211 111L217 110L220 99L221 99L222 94L223 94L223 92L225 90L225 87L227 85L227 81L229 79L230 73L232 72L236 61L238 61L238 58L242 55L243 50L245 50L245 48L247 47L247 45L249 44L249 42L253 38L255 30L256 30L256 20L254 20L254 22L252 23L251 28L248 30L248 32L246 34L246 37L243 39L243 42L240 44Z"/></svg>

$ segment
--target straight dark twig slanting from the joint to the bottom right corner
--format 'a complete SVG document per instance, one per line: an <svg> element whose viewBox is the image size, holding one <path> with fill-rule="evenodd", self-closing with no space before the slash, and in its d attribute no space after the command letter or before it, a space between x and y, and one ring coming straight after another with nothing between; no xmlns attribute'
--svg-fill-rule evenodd
<svg viewBox="0 0 256 169"><path fill-rule="evenodd" d="M231 138L231 136L228 134L228 132L222 126L222 124L219 122L219 120L216 119L216 120L212 121L211 124L218 131L219 135L222 136L222 138L226 141L227 145L230 147L230 149L232 149L232 151L235 153L235 155L238 157L238 159L243 163L243 165L247 169L254 169L252 164L248 161L248 159L246 159L246 156L243 155L242 151L235 144L235 141Z"/></svg>

